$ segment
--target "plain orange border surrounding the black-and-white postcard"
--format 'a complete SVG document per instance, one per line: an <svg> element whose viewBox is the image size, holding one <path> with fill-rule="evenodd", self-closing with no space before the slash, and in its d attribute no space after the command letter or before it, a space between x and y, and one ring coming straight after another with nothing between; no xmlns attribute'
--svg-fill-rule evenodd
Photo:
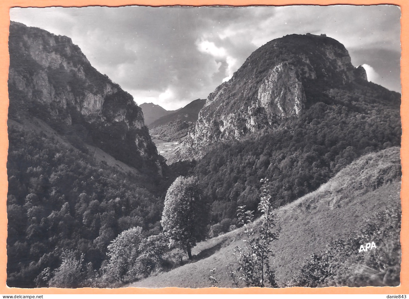
<svg viewBox="0 0 409 299"><path fill-rule="evenodd" d="M408 51L409 51L409 1L407 0L0 0L0 294L409 294L409 239L407 237L409 229L409 140L408 130L409 121L409 87L405 84L409 76ZM9 70L9 52L8 52L8 35L9 35L9 9L10 7L52 7L52 6L124 6L124 5L292 5L292 4L356 4L356 5L373 5L373 4L395 4L400 6L402 12L401 18L401 82L402 82L402 265L401 265L401 284L398 287L329 287L329 288L281 288L281 289L262 289L262 288L245 288L245 289L223 289L223 288L162 288L162 289L145 289L145 288L121 288L121 289L58 289L58 288L37 288L21 289L9 288L6 286L6 239L7 239L7 109L8 109L8 92L7 78Z"/></svg>

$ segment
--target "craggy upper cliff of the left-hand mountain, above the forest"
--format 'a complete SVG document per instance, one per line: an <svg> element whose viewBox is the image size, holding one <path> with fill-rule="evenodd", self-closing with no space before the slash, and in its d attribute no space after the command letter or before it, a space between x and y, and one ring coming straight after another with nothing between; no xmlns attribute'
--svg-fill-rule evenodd
<svg viewBox="0 0 409 299"><path fill-rule="evenodd" d="M161 173L162 159L130 94L91 66L66 36L11 22L9 117L31 115L62 133Z"/></svg>

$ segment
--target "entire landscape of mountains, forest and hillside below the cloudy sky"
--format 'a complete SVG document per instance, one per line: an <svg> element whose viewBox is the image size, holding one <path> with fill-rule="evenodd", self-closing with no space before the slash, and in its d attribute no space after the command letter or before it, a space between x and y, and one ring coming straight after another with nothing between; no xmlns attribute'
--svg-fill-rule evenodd
<svg viewBox="0 0 409 299"><path fill-rule="evenodd" d="M11 22L9 53L9 287L400 284L401 95L337 40L274 39L175 111L69 37Z"/></svg>

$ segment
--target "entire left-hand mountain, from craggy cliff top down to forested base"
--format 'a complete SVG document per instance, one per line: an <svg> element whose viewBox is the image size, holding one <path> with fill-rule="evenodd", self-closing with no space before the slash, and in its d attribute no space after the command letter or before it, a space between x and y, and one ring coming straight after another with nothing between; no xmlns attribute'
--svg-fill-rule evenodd
<svg viewBox="0 0 409 299"><path fill-rule="evenodd" d="M118 234L160 231L166 164L70 38L11 22L9 51L7 285L92 286Z"/></svg>

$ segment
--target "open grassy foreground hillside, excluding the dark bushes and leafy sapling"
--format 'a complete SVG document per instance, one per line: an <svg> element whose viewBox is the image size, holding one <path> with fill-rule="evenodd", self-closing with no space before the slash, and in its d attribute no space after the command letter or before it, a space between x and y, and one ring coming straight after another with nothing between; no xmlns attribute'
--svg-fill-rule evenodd
<svg viewBox="0 0 409 299"><path fill-rule="evenodd" d="M286 283L312 253L326 249L332 238L348 236L371 215L384 210L391 202L400 202L399 153L395 147L365 155L317 191L277 211L281 232L272 250L276 255L273 266L279 284ZM256 220L254 225L257 224ZM234 248L243 247L243 239L243 230L236 229L199 243L192 250L198 261L131 286L209 287L209 269L216 268L217 286L234 287L229 265L237 267Z"/></svg>

